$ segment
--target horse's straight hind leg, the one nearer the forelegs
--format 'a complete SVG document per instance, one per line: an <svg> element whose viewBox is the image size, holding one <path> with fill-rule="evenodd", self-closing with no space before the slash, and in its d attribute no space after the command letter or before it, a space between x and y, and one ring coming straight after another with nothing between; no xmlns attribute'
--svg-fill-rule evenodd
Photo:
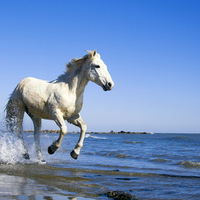
<svg viewBox="0 0 200 200"><path fill-rule="evenodd" d="M33 120L34 124L34 139L35 139L35 146L36 146L38 160L42 163L45 163L40 146L41 119L34 117L31 117L31 119Z"/></svg>

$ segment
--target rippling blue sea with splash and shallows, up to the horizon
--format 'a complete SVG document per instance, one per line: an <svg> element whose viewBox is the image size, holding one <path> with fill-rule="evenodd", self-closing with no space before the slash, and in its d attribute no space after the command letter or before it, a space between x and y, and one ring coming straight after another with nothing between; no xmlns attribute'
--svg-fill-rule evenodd
<svg viewBox="0 0 200 200"><path fill-rule="evenodd" d="M38 164L34 136L0 133L0 199L106 200L123 191L140 200L200 199L200 134L86 134L77 160L70 157L79 134L68 133L53 155L58 134L42 133L46 164Z"/></svg>

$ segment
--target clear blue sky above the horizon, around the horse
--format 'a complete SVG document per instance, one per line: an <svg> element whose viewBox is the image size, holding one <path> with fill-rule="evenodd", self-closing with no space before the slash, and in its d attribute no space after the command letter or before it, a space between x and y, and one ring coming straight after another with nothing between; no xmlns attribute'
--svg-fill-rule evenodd
<svg viewBox="0 0 200 200"><path fill-rule="evenodd" d="M53 80L72 58L97 49L115 87L88 84L88 131L200 133L199 21L198 0L2 0L1 113L20 80Z"/></svg>

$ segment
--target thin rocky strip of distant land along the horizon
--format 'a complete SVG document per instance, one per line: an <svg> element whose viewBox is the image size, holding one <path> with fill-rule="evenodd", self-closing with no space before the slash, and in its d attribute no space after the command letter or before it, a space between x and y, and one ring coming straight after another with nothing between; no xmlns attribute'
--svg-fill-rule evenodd
<svg viewBox="0 0 200 200"><path fill-rule="evenodd" d="M24 130L24 133L33 133L34 130ZM41 133L59 133L59 130L41 130ZM79 133L79 132L69 132L69 133ZM119 132L115 132L115 131L110 131L110 132L86 132L87 134L153 134L153 133L148 133L148 132L131 132L131 131L119 131Z"/></svg>

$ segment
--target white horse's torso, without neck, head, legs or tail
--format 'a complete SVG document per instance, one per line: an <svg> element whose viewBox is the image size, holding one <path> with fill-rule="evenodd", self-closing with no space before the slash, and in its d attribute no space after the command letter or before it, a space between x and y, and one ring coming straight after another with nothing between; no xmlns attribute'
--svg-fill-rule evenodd
<svg viewBox="0 0 200 200"><path fill-rule="evenodd" d="M58 110L64 119L77 116L82 109L82 95L77 99L63 82L47 82L28 77L15 88L12 100L20 102L25 111L36 118L53 119Z"/></svg>

